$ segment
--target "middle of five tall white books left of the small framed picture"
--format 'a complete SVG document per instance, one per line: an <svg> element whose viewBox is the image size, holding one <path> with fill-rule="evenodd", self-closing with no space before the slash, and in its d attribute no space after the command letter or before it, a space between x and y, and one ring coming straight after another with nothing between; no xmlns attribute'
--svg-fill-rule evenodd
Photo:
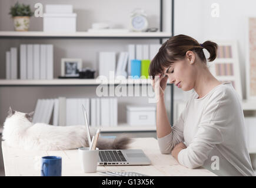
<svg viewBox="0 0 256 188"><path fill-rule="evenodd" d="M40 79L40 45L33 45L33 79Z"/></svg>

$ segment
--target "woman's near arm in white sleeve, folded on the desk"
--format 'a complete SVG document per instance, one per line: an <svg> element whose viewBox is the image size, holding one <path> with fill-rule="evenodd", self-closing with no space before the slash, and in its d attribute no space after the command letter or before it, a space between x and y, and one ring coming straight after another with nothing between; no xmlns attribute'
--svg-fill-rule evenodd
<svg viewBox="0 0 256 188"><path fill-rule="evenodd" d="M180 164L189 169L202 166L211 150L223 142L222 131L227 129L225 126L228 121L229 106L230 100L225 96L225 92L218 93L208 101L194 139L187 148L177 149L175 152Z"/></svg>

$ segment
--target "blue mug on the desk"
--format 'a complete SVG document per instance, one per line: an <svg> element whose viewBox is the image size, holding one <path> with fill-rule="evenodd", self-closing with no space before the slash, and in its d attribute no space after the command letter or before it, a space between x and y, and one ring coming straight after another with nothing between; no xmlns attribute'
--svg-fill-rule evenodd
<svg viewBox="0 0 256 188"><path fill-rule="evenodd" d="M61 176L61 157L42 157L41 176Z"/></svg>

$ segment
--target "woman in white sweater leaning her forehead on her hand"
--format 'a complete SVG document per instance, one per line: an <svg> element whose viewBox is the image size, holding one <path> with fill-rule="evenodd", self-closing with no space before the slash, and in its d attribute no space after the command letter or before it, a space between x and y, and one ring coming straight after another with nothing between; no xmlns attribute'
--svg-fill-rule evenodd
<svg viewBox="0 0 256 188"><path fill-rule="evenodd" d="M219 176L254 176L245 143L244 114L230 82L212 76L202 49L214 61L217 43L202 44L186 35L170 38L152 60L150 75L159 79L157 137L161 153L182 165L203 166ZM184 91L194 89L174 126L168 122L164 104L167 80Z"/></svg>

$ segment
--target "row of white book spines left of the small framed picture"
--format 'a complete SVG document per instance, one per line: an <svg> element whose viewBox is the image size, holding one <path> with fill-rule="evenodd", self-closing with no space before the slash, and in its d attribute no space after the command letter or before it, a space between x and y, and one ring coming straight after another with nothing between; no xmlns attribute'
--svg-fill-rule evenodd
<svg viewBox="0 0 256 188"><path fill-rule="evenodd" d="M18 79L18 50L6 52L6 79ZM19 78L54 79L54 46L52 44L21 44Z"/></svg>

